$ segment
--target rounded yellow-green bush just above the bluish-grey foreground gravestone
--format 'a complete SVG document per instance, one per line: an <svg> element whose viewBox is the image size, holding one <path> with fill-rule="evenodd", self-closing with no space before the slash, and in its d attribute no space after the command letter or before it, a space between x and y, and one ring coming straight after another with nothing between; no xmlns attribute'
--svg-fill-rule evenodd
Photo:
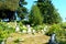
<svg viewBox="0 0 66 44"><path fill-rule="evenodd" d="M58 31L61 32L62 28L58 24L51 25L50 30L46 32L47 35L52 35L53 33L57 34Z"/></svg>

